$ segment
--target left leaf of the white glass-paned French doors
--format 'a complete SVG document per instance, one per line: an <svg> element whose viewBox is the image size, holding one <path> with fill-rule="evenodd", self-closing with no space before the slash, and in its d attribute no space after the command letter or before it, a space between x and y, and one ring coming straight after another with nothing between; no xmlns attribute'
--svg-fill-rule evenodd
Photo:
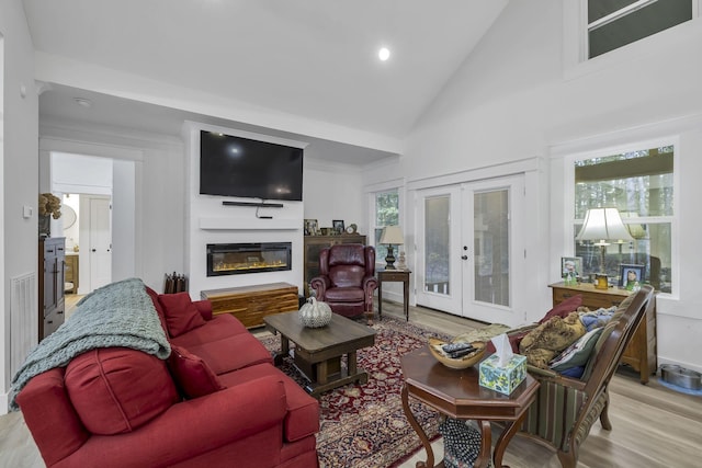
<svg viewBox="0 0 702 468"><path fill-rule="evenodd" d="M417 195L417 304L462 315L461 191L431 189Z"/></svg>

